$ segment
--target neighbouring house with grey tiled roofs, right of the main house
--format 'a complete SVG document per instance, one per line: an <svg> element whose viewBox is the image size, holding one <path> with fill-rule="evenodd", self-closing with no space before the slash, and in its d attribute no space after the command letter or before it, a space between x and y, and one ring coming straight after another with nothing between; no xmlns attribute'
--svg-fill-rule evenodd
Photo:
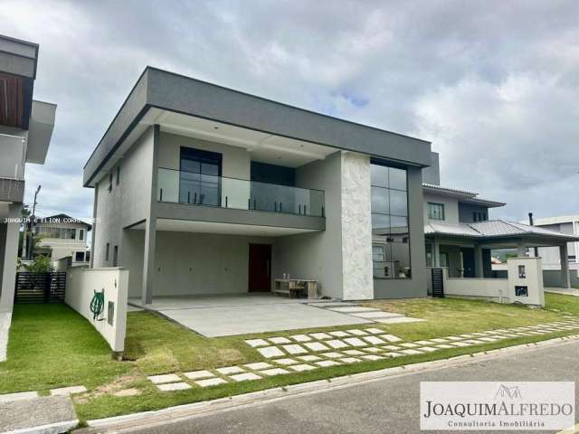
<svg viewBox="0 0 579 434"><path fill-rule="evenodd" d="M427 267L448 268L451 278L492 278L490 251L516 249L518 256L533 253L532 247L565 249L577 235L518 222L490 220L489 210L505 203L479 198L478 193L441 187L438 158L425 171L424 236ZM539 255L540 256L540 255ZM506 267L505 267L506 269ZM568 260L559 268L559 285L570 285Z"/></svg>

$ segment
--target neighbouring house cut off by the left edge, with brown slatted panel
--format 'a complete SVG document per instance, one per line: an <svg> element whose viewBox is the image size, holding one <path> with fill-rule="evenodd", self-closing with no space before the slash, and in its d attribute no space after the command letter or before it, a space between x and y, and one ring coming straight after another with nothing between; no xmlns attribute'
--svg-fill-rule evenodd
<svg viewBox="0 0 579 434"><path fill-rule="evenodd" d="M37 44L0 35L0 360L14 301L25 164L44 163L56 110L33 100L37 59Z"/></svg>

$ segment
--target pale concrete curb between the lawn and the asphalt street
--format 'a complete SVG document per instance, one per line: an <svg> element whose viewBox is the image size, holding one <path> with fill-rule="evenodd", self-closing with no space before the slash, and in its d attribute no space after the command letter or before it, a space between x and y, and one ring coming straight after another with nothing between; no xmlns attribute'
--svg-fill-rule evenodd
<svg viewBox="0 0 579 434"><path fill-rule="evenodd" d="M162 410L144 411L106 419L89 420L87 422L89 428L80 429L75 432L81 434L102 432L109 429L114 429L115 432L122 432L123 429L134 429L138 426L146 425L147 427L151 427L157 424L166 423L169 420L176 421L190 419L221 411L236 410L255 404L280 401L299 395L327 392L328 390L343 389L367 382L377 382L384 380L385 378L409 375L423 371L436 371L443 368L469 363L479 363L481 361L495 359L500 356L527 353L537 349L568 344L577 340L579 340L579 335L569 335L549 339L546 341L538 341L531 344L520 344L516 346L498 348L496 350L489 350L486 352L464 354L451 357L449 359L435 360L432 362L412 363L403 366L396 366L393 368L381 369L378 371L370 371L367 373L354 373L351 375L344 375L327 380L292 384L284 387L266 389L259 392L250 392L241 395L220 398L213 401L195 402L193 404L168 407Z"/></svg>

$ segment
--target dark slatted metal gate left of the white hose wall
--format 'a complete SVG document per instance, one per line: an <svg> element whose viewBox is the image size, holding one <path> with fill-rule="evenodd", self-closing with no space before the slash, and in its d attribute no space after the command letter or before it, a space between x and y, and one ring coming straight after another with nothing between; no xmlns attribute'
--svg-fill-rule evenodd
<svg viewBox="0 0 579 434"><path fill-rule="evenodd" d="M62 303L66 291L66 272L16 273L14 303Z"/></svg>

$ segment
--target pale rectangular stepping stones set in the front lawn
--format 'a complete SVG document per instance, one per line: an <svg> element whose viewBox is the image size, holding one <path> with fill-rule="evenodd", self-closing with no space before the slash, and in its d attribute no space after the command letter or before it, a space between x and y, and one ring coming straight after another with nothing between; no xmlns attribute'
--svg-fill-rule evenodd
<svg viewBox="0 0 579 434"><path fill-rule="evenodd" d="M578 329L579 318L572 318L544 325L433 337L415 342L406 342L403 338L386 334L383 329L376 327L290 335L289 337L273 336L245 340L246 344L255 348L268 359L268 362L245 363L188 373L166 373L151 375L147 378L162 392L187 391L230 382L251 382L276 375L304 373L344 363L375 362L390 357L429 354L446 349L489 344L509 338ZM83 386L73 386L51 391L52 394L62 395L80 392L86 392L86 389ZM25 399L24 397L33 396L35 393L0 395L0 403ZM23 398L19 398L20 396Z"/></svg>

